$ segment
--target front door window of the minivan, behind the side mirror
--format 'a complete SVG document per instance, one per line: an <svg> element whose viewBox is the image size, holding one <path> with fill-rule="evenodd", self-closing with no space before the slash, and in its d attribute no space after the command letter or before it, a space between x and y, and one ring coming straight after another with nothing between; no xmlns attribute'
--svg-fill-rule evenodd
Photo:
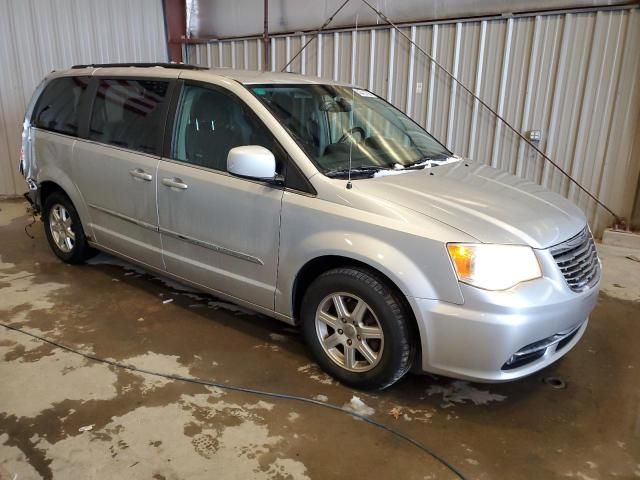
<svg viewBox="0 0 640 480"><path fill-rule="evenodd" d="M229 150L241 145L261 145L281 155L271 132L238 98L228 92L185 85L173 137L173 158L214 170L227 170Z"/></svg>

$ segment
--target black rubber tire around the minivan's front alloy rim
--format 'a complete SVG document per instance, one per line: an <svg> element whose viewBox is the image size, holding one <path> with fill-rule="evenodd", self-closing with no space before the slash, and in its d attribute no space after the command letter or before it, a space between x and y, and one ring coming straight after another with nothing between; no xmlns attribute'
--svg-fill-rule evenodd
<svg viewBox="0 0 640 480"><path fill-rule="evenodd" d="M377 360L377 363L367 362L360 352L355 353L355 355L360 356L364 362L369 363L369 366L375 365L372 366L370 370L351 371L337 363L339 360L332 359L330 353L325 351L325 348L322 346L320 338L323 334L318 331L318 328L322 329L324 327L317 327L316 312L321 304L329 305L329 308L332 308L330 305L333 303L333 300L331 300L331 303L325 302L330 302L328 297L338 292L348 294L343 298L346 298L346 301L352 301L352 304L357 303L358 299L364 300L367 307L369 307L368 312L370 313L367 315L369 315L370 319L375 316L375 322L379 325L379 328L382 329L384 343L382 344L383 348L381 348L380 358ZM349 298L349 295L357 298ZM329 375L353 388L382 390L400 380L411 368L411 363L414 358L415 340L412 339L412 329L409 323L411 317L405 305L406 303L399 294L397 294L393 288L390 288L385 280L373 271L360 267L329 270L320 275L305 292L301 308L303 335L316 361ZM337 309L334 310L334 312L337 312ZM351 320L346 323L350 321ZM369 321L373 322L373 320ZM342 331L344 335L347 334L346 327L340 331ZM331 334L338 332L339 330L330 327L324 338L327 339ZM353 329L350 330L349 334L354 334ZM340 338L344 339L346 337L341 334ZM361 346L362 342L360 342L360 340L361 337L358 335L357 340L353 338L352 342L354 343L349 343L349 345L356 345L355 342L357 342L357 344ZM346 345L341 344L335 347L333 352L337 353L333 353L333 355L334 357L339 357L341 352L340 348L343 349L342 363L346 365L347 357L344 354L344 349L347 348ZM348 348L356 347L352 346ZM359 360L359 362L363 363L362 360Z"/></svg>

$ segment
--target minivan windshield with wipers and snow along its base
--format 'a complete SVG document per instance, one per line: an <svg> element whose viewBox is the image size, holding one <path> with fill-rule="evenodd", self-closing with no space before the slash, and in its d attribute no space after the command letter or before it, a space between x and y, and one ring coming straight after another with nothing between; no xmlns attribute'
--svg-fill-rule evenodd
<svg viewBox="0 0 640 480"><path fill-rule="evenodd" d="M251 91L330 177L424 168L452 153L404 113L358 88L251 85Z"/></svg>

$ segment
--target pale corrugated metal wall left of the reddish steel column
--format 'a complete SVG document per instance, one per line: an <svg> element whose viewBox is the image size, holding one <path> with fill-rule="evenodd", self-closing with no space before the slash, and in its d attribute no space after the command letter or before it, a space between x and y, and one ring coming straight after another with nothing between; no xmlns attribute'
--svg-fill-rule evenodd
<svg viewBox="0 0 640 480"><path fill-rule="evenodd" d="M0 2L0 195L22 194L24 109L42 78L79 63L166 61L161 0Z"/></svg>

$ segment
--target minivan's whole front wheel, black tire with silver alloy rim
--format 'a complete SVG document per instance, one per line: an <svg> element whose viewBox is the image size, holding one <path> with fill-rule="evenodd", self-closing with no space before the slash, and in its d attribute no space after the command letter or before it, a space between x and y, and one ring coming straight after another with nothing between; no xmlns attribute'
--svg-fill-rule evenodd
<svg viewBox="0 0 640 480"><path fill-rule="evenodd" d="M411 367L406 307L374 272L338 268L320 275L305 293L301 317L318 364L346 385L383 389Z"/></svg>

